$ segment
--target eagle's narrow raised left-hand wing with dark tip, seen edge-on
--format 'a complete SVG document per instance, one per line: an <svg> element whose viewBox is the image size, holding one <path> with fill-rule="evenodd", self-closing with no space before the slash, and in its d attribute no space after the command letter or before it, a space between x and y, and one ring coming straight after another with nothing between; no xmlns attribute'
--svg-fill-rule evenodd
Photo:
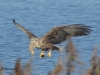
<svg viewBox="0 0 100 75"><path fill-rule="evenodd" d="M15 20L13 19L13 23L20 28L22 31L24 31L27 36L29 37L29 39L31 38L36 38L37 36L35 36L33 33L31 33L30 31L28 31L26 28L24 28L23 26L21 26L20 24L16 23Z"/></svg>

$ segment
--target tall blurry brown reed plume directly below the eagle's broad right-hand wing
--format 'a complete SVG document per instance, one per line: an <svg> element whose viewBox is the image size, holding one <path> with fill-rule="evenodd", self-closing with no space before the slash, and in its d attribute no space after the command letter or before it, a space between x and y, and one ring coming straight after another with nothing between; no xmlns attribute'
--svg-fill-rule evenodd
<svg viewBox="0 0 100 75"><path fill-rule="evenodd" d="M66 74L71 75L71 72L75 70L74 63L78 62L77 61L78 53L76 52L75 45L72 42L71 38L68 40L68 43L66 45L66 57L67 57Z"/></svg>

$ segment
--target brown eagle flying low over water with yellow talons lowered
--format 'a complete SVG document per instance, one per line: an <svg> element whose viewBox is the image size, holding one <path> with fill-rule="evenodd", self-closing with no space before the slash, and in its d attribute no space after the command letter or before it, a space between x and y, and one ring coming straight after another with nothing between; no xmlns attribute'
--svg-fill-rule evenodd
<svg viewBox="0 0 100 75"><path fill-rule="evenodd" d="M71 37L86 36L90 34L91 27L84 24L71 24L64 26L54 27L52 30L47 32L41 38L38 38L32 32L24 28L22 25L18 24L15 19L12 22L23 32L27 34L30 39L29 51L34 54L34 48L41 49L40 58L45 56L45 51L48 52L48 57L51 57L53 50L60 50L55 44L60 44Z"/></svg>

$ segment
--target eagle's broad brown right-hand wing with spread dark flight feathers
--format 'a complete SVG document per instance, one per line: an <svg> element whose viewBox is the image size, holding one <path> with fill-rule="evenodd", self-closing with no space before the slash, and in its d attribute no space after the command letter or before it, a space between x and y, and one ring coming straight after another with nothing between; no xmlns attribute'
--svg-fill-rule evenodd
<svg viewBox="0 0 100 75"><path fill-rule="evenodd" d="M72 36L85 36L90 33L89 26L83 24L72 24L69 26L55 27L43 36L46 40L52 44L59 44Z"/></svg>

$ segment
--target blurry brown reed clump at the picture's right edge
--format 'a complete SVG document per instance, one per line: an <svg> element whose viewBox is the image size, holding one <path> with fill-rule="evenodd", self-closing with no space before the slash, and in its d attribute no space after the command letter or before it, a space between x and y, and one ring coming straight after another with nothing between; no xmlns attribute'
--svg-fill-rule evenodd
<svg viewBox="0 0 100 75"><path fill-rule="evenodd" d="M97 46L93 50L91 57L91 68L88 69L87 75L100 75L100 57L97 54Z"/></svg>

